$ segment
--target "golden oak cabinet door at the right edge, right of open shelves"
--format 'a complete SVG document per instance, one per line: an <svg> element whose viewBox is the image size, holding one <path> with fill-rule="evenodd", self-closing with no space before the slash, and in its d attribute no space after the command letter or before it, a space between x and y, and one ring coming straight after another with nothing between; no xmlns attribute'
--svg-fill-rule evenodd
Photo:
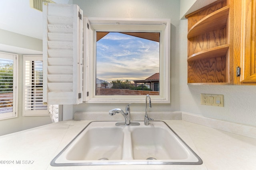
<svg viewBox="0 0 256 170"><path fill-rule="evenodd" d="M256 83L256 0L242 0L241 81Z"/></svg>

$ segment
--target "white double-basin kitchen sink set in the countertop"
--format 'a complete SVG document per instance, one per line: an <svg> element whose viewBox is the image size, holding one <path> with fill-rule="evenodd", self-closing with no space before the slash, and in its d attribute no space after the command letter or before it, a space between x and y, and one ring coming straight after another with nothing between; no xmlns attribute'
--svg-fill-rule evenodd
<svg viewBox="0 0 256 170"><path fill-rule="evenodd" d="M202 164L201 158L164 121L145 126L90 122L51 162L52 166Z"/></svg>

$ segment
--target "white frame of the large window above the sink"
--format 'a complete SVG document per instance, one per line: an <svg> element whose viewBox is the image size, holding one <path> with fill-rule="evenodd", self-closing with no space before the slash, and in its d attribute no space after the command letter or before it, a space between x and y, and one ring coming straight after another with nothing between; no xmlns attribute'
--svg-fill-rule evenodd
<svg viewBox="0 0 256 170"><path fill-rule="evenodd" d="M88 29L86 27L89 27ZM170 103L170 20L84 18L84 91L86 103L144 103L145 96L96 96L96 31L160 32L160 94L154 103ZM125 68L124 68L125 69Z"/></svg>

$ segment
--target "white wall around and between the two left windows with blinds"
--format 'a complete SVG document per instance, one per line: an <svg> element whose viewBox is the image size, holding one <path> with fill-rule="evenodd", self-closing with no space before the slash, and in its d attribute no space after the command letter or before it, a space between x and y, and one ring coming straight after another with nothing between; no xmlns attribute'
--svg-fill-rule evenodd
<svg viewBox="0 0 256 170"><path fill-rule="evenodd" d="M42 40L40 39L4 31L2 29L0 29L0 37L0 51L2 52L17 54L17 52L26 51L25 54L32 54L37 51L37 53L34 54L42 53ZM8 47L9 51L6 51L5 47ZM22 55L23 54L19 54L18 56L18 117L0 120L0 136L52 123L50 116L22 116Z"/></svg>

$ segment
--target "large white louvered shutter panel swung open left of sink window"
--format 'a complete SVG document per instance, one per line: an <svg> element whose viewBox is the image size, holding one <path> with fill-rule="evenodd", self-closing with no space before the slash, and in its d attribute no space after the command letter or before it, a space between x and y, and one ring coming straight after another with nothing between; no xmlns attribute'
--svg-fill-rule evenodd
<svg viewBox="0 0 256 170"><path fill-rule="evenodd" d="M82 103L82 10L43 4L44 104Z"/></svg>

